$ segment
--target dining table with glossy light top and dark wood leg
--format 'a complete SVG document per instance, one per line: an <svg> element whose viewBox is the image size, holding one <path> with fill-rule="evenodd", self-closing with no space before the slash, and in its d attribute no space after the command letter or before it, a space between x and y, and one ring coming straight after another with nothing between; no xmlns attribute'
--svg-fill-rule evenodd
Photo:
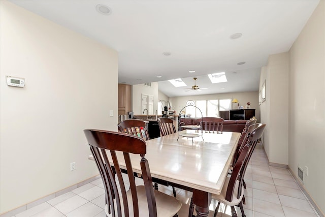
<svg viewBox="0 0 325 217"><path fill-rule="evenodd" d="M164 180L191 191L197 216L208 216L211 195L221 193L241 134L197 130L183 130L180 133L199 134L200 137L178 139L177 132L146 141L145 158L149 162L151 176L155 181ZM141 174L140 157L131 154L131 161L134 172ZM124 161L119 162L122 162L120 167L125 168L122 165Z"/></svg>

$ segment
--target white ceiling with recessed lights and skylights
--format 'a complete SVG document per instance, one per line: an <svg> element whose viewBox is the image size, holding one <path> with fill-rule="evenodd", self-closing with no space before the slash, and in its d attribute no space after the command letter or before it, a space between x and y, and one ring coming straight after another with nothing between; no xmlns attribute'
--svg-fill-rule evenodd
<svg viewBox="0 0 325 217"><path fill-rule="evenodd" d="M319 0L10 2L117 50L119 83L158 81L160 91L175 97L257 90L268 56L289 50ZM111 14L98 13L98 4ZM230 39L235 33L242 37ZM223 71L226 83L211 84L206 76ZM166 81L182 78L188 88L193 77L208 89L185 91Z"/></svg>

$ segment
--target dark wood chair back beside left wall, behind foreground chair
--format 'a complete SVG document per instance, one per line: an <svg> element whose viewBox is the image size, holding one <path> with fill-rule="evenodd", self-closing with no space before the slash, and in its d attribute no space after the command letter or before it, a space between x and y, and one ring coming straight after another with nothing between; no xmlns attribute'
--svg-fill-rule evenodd
<svg viewBox="0 0 325 217"><path fill-rule="evenodd" d="M150 139L146 123L142 120L123 120L117 124L117 127L121 133L135 135L144 140Z"/></svg>

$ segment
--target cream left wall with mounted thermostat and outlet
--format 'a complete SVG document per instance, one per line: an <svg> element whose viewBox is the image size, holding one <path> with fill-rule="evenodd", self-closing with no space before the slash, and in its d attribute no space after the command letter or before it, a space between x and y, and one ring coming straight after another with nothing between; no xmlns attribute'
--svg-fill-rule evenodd
<svg viewBox="0 0 325 217"><path fill-rule="evenodd" d="M4 213L98 175L83 130L116 130L118 81L116 51L7 1L0 4ZM7 86L6 75L25 78L26 86Z"/></svg>

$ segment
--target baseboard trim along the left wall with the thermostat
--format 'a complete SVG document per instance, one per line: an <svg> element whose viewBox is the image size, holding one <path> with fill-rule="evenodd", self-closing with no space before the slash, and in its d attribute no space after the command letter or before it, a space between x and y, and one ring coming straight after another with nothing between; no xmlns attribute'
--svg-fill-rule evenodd
<svg viewBox="0 0 325 217"><path fill-rule="evenodd" d="M42 198L37 199L35 201L32 201L30 203L26 203L26 204L24 204L22 206L19 206L19 207L15 208L15 209L12 209L12 210L8 211L8 212L2 213L2 214L0 214L0 217L12 217L13 215L16 215L16 214L18 214L20 212L23 212L23 211L25 211L27 209L30 209L31 207L37 206L37 205L39 205L41 203L44 203L44 202L46 202L48 200L51 200L51 199L53 199L53 198L55 198L57 196L62 195L62 194L66 194L67 192L70 192L70 191L72 191L74 189L77 189L77 188L81 187L82 185L87 184L89 182L92 182L92 181L94 181L94 180L96 180L96 179L98 179L100 177L101 177L100 175L93 176L91 178L88 178L86 180L78 182L77 184L71 185L68 188L65 188L65 189L62 189L60 191L54 192L54 193L52 193L50 195L47 195L45 197L42 197Z"/></svg>

